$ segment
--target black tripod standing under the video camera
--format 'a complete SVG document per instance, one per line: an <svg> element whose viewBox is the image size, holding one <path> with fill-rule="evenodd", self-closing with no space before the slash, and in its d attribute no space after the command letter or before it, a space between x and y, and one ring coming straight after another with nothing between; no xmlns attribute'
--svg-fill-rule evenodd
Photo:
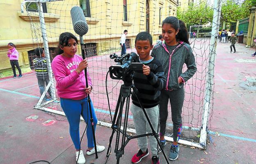
<svg viewBox="0 0 256 164"><path fill-rule="evenodd" d="M121 85L119 98L117 100L116 110L115 110L114 117L113 117L113 120L112 120L111 128L113 130L112 130L112 134L110 136L110 143L109 143L109 146L107 148L107 157L109 157L109 155L110 155L110 147L111 147L114 132L116 131L117 132L117 137L116 137L116 145L115 145L114 152L116 153L117 164L119 164L120 157L122 157L122 155L124 154L125 146L128 144L128 142L131 139L153 135L155 137L155 139L157 140L158 145L160 145L160 142L159 142L159 139L158 139L158 134L153 129L153 126L152 126L152 124L149 120L149 117L148 117L148 115L147 115L147 113L146 113L146 111L143 107L142 107L142 111L143 111L144 115L146 116L146 120L149 123L149 126L152 130L152 133L147 133L147 134L142 134L142 135L134 135L134 136L130 136L130 135L126 134L127 123L128 123L128 113L129 113L129 104L130 104L130 95L132 93L131 89L133 89L133 91L135 93L137 92L137 89L135 88L135 86L133 85L132 82L124 82L124 84ZM125 108L124 121L123 121L123 130L121 130L123 105L125 104L125 102L126 102L126 108ZM139 104L141 105L140 102L139 102ZM120 133L122 133L123 135L120 136ZM119 148L119 139L120 139L120 137L122 137L121 138L122 142L121 142L121 145L120 145L120 148ZM164 152L161 145L160 145L160 149L161 149L163 155L165 156L166 162L169 164L168 159L167 159L167 157L165 155L165 152Z"/></svg>

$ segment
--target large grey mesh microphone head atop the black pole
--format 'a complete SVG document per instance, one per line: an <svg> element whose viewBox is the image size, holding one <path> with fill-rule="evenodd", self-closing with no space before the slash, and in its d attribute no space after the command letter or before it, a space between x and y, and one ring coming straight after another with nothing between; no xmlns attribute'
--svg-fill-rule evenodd
<svg viewBox="0 0 256 164"><path fill-rule="evenodd" d="M81 7L75 6L71 9L71 19L75 33L82 36L88 32L88 25L85 20L85 14Z"/></svg>

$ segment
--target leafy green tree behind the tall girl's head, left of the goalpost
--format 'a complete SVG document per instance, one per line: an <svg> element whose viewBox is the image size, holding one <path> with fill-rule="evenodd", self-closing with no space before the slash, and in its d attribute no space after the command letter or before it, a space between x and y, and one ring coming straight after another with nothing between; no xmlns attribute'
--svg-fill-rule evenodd
<svg viewBox="0 0 256 164"><path fill-rule="evenodd" d="M201 2L199 5L192 3L184 11L178 7L177 18L183 20L187 28L193 25L207 24L213 20L213 9L206 2Z"/></svg>

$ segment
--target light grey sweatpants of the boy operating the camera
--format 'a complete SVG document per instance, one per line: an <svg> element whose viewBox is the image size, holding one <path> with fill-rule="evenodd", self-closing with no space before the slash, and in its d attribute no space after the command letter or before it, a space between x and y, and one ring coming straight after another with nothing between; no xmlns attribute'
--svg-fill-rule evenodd
<svg viewBox="0 0 256 164"><path fill-rule="evenodd" d="M134 104L131 105L131 112L133 114L133 122L137 135L152 133L149 123L146 120L142 109ZM149 116L149 120L153 126L153 129L158 133L158 122L159 122L159 107L154 106L153 108L146 108L146 113ZM158 156L157 141L154 136L149 136L150 148L153 156ZM138 138L138 145L142 151L146 151L147 148L147 137Z"/></svg>

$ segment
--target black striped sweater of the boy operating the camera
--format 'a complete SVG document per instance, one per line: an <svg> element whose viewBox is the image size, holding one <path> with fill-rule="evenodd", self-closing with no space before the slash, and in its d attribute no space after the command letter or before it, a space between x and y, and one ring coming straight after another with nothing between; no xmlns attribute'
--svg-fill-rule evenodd
<svg viewBox="0 0 256 164"><path fill-rule="evenodd" d="M139 62L139 58L137 61ZM152 108L158 105L160 101L160 91L166 85L165 74L162 64L153 59L149 63L144 63L150 67L149 75L144 75L141 72L135 72L133 76L133 83L138 90L137 96L144 108ZM132 93L133 104L139 106L138 99L135 93Z"/></svg>

